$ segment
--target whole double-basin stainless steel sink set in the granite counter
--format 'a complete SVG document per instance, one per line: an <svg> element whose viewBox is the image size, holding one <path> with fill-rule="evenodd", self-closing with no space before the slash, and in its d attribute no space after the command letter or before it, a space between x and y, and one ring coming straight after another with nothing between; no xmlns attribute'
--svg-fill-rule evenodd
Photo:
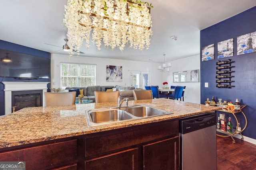
<svg viewBox="0 0 256 170"><path fill-rule="evenodd" d="M148 105L134 105L112 109L86 110L86 119L88 126L97 126L168 114L172 114L172 112Z"/></svg>

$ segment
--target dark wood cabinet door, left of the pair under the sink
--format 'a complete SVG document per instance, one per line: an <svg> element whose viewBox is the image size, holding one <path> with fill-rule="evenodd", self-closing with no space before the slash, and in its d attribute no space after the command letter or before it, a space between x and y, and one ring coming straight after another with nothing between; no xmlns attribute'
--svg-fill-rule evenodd
<svg viewBox="0 0 256 170"><path fill-rule="evenodd" d="M86 160L85 170L138 170L138 148Z"/></svg>

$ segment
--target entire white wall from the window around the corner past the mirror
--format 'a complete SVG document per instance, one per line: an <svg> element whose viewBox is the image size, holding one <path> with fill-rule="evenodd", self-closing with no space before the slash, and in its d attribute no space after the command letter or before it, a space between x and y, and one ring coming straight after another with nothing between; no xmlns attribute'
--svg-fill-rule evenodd
<svg viewBox="0 0 256 170"><path fill-rule="evenodd" d="M96 64L96 84L101 86L130 86L130 70L150 72L150 85L158 85L160 88L163 82L168 86L186 86L184 101L200 104L200 83L172 83L172 72L200 69L200 55L187 57L172 61L170 72L157 70L161 63L104 59L96 57L72 56L52 54L51 56L51 82L52 88L60 87L60 62ZM106 82L106 65L117 65L123 67L122 82ZM200 71L199 71L200 72Z"/></svg>

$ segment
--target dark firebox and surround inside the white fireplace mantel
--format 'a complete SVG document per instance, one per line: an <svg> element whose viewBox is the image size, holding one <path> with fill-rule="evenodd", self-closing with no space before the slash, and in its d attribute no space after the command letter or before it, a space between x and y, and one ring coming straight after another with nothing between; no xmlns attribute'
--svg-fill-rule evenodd
<svg viewBox="0 0 256 170"><path fill-rule="evenodd" d="M12 91L12 107L18 111L24 107L43 106L43 90Z"/></svg>

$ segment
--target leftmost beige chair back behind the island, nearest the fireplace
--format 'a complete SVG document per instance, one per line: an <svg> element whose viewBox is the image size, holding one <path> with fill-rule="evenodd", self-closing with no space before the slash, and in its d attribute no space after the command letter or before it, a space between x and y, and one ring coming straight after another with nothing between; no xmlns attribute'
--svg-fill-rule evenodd
<svg viewBox="0 0 256 170"><path fill-rule="evenodd" d="M43 106L64 106L75 104L76 92L52 93L44 92Z"/></svg>

